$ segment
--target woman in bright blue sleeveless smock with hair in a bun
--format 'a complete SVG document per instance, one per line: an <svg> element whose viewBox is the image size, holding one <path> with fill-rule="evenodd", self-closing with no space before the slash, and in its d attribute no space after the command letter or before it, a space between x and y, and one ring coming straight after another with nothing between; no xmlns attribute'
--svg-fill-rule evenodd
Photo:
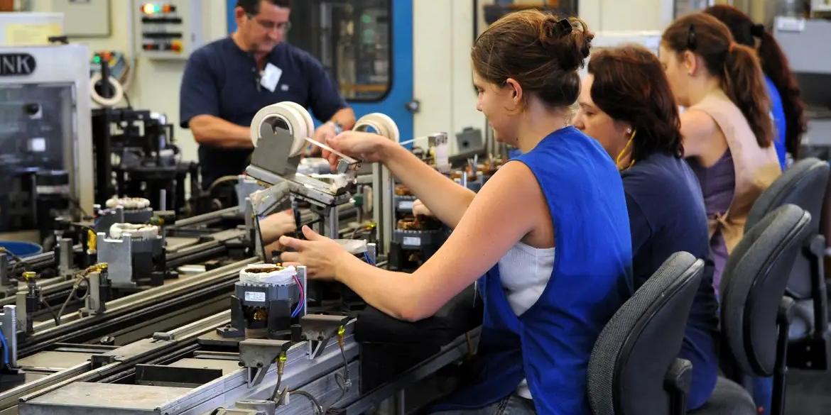
<svg viewBox="0 0 831 415"><path fill-rule="evenodd" d="M377 309L420 320L479 280L484 320L477 381L439 411L588 415L586 369L597 334L632 294L629 221L617 168L568 125L593 34L576 19L514 12L471 52L482 111L523 154L472 193L374 134L328 143L384 163L454 228L412 275L366 265L304 227L283 261L347 284Z"/></svg>

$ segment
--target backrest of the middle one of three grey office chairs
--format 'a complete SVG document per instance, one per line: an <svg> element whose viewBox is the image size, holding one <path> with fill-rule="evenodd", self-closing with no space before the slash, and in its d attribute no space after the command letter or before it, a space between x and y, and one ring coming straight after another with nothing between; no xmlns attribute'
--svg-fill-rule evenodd
<svg viewBox="0 0 831 415"><path fill-rule="evenodd" d="M751 227L721 275L721 336L745 374L770 376L776 360L776 313L811 215L792 204Z"/></svg>

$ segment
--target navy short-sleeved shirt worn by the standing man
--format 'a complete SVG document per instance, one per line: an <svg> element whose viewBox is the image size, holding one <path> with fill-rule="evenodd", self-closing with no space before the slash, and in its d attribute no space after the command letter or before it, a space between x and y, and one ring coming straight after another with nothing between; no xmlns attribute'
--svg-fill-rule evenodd
<svg viewBox="0 0 831 415"><path fill-rule="evenodd" d="M237 46L231 37L212 41L189 57L179 90L179 125L188 128L196 115L214 115L248 127L253 116L266 105L293 101L311 108L318 120L329 120L347 103L338 93L322 64L307 52L280 43L266 57L283 71L274 91L258 88L258 71L253 56ZM199 164L202 185L214 179L243 173L250 149L220 149L200 144Z"/></svg>

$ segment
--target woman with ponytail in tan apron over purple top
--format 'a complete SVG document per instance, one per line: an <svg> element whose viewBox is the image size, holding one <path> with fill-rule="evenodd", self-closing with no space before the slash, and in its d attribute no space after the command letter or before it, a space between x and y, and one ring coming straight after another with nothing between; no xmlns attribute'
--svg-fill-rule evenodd
<svg viewBox="0 0 831 415"><path fill-rule="evenodd" d="M694 13L672 22L660 59L681 115L684 153L698 176L710 225L713 284L745 221L779 177L765 79L755 51L733 40L715 17Z"/></svg>

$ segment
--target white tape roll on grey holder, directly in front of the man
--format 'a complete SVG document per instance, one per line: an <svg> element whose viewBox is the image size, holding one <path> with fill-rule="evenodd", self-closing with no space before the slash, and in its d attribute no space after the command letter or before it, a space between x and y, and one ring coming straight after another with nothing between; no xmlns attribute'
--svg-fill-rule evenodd
<svg viewBox="0 0 831 415"><path fill-rule="evenodd" d="M288 157L301 154L303 147L307 144L306 139L314 131L312 115L309 115L308 111L302 105L289 101L268 105L257 111L257 114L254 115L251 121L250 128L251 143L253 146L257 147L260 126L273 118L283 121L288 126L288 133L292 136L292 147L289 150Z"/></svg>

